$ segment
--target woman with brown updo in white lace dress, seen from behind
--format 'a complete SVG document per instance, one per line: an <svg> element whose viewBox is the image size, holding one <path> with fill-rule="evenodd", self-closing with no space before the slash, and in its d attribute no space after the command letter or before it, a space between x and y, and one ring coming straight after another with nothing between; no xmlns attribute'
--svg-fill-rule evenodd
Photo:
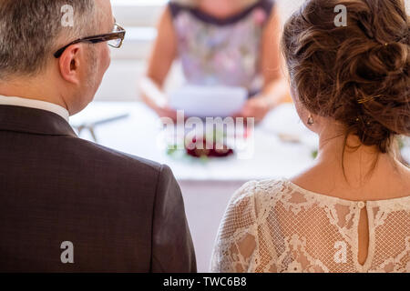
<svg viewBox="0 0 410 291"><path fill-rule="evenodd" d="M292 15L282 47L319 156L237 191L213 272L410 272L410 170L393 150L410 135L409 28L403 0L308 0Z"/></svg>

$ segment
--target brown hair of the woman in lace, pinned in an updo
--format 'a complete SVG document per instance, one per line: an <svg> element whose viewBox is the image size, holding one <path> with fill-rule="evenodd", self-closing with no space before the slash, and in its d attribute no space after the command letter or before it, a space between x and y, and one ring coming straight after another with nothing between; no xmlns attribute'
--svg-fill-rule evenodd
<svg viewBox="0 0 410 291"><path fill-rule="evenodd" d="M387 152L410 135L409 29L403 0L307 0L282 38L295 102Z"/></svg>

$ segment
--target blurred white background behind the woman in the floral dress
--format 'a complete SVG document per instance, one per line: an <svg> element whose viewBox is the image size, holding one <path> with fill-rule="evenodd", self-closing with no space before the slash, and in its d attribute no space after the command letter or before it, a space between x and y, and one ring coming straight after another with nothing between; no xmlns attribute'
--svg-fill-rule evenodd
<svg viewBox="0 0 410 291"><path fill-rule="evenodd" d="M282 22L304 0L276 0L281 9ZM156 24L168 0L111 0L118 23L127 28L124 46L112 50L112 64L101 85L100 101L138 101L138 78L145 72L149 49L157 34ZM410 0L405 0L410 11ZM183 82L178 62L169 76L167 88Z"/></svg>

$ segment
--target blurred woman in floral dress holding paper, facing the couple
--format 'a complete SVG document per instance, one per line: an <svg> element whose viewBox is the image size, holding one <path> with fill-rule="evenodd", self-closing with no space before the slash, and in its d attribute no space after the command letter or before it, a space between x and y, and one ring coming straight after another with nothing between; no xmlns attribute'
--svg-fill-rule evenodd
<svg viewBox="0 0 410 291"><path fill-rule="evenodd" d="M189 85L242 86L252 98L238 115L261 120L289 95L282 77L280 20L272 0L171 1L145 80L162 89L180 59ZM145 84L145 83L143 83ZM160 116L176 118L153 85L141 85L143 100Z"/></svg>

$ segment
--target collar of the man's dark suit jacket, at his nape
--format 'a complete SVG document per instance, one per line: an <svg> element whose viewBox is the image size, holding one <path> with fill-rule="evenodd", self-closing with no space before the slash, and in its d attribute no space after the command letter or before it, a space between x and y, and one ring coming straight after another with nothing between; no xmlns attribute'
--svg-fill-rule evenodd
<svg viewBox="0 0 410 291"><path fill-rule="evenodd" d="M15 105L0 105L0 131L36 135L69 135L77 137L67 120L50 111Z"/></svg>

